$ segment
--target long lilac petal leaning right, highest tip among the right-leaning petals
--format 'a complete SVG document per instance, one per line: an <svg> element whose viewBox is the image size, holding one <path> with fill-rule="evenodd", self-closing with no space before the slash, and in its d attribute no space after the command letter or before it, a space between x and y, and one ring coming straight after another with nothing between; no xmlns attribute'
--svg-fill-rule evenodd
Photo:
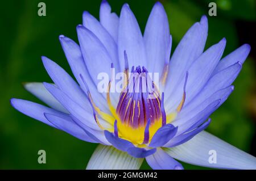
<svg viewBox="0 0 256 181"><path fill-rule="evenodd" d="M168 78L166 82L166 98L176 91L177 84L181 81L188 68L203 53L208 33L207 16L202 16L200 23L193 24L185 33L180 43L172 54ZM166 102L170 100L166 99Z"/></svg>

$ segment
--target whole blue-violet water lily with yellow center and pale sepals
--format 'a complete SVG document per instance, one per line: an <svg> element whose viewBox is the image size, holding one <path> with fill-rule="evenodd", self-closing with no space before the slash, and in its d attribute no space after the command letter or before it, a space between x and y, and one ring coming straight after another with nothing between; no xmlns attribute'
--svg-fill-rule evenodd
<svg viewBox="0 0 256 181"><path fill-rule="evenodd" d="M76 81L42 57L52 83L26 89L49 107L11 99L18 111L86 142L100 144L86 169L183 169L176 161L220 169L256 169L256 159L204 131L210 114L234 90L232 85L250 52L242 45L222 57L226 39L204 51L207 16L193 24L171 54L172 37L161 3L155 3L142 35L129 5L121 15L102 1L100 21L85 11L77 26L79 45L60 35ZM171 57L171 58L170 58ZM121 92L110 91L115 72L128 75ZM98 89L98 75L109 75ZM149 73L158 73L156 79ZM153 89L153 91L151 91ZM210 161L211 151L216 154Z"/></svg>

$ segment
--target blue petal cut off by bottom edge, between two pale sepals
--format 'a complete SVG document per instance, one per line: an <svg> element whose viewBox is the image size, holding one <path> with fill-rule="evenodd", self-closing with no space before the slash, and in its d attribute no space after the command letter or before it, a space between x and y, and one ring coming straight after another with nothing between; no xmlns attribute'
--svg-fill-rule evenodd
<svg viewBox="0 0 256 181"><path fill-rule="evenodd" d="M146 157L148 165L154 170L181 170L183 166L177 162L174 158L170 157L165 151L161 148L158 148L157 151Z"/></svg>

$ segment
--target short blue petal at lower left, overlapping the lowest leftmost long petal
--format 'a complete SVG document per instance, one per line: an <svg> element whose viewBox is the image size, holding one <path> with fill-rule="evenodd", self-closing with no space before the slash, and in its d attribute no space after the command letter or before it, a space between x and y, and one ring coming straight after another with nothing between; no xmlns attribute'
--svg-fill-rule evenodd
<svg viewBox="0 0 256 181"><path fill-rule="evenodd" d="M46 116L46 119L51 122L53 125L55 125L57 128L61 129L64 132L67 132L71 134L72 136L75 136L76 138L79 138L80 140L87 141L87 142L94 142L97 141L93 140L86 134L82 128L80 128L77 124L73 122L71 117L69 116L56 116L49 113L44 113L44 116Z"/></svg>

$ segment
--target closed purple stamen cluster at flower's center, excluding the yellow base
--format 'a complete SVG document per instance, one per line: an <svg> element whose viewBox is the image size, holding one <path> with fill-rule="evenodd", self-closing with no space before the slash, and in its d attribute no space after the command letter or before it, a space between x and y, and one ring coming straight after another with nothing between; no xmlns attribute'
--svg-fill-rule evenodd
<svg viewBox="0 0 256 181"><path fill-rule="evenodd" d="M129 78L127 91L123 90L121 93L116 109L122 123L133 128L145 127L148 119L154 123L158 118L160 119L161 115L158 91L154 91L149 96L148 85L152 86L152 80L148 80L145 77L146 74L147 70L144 67L137 66L135 68Z"/></svg>

